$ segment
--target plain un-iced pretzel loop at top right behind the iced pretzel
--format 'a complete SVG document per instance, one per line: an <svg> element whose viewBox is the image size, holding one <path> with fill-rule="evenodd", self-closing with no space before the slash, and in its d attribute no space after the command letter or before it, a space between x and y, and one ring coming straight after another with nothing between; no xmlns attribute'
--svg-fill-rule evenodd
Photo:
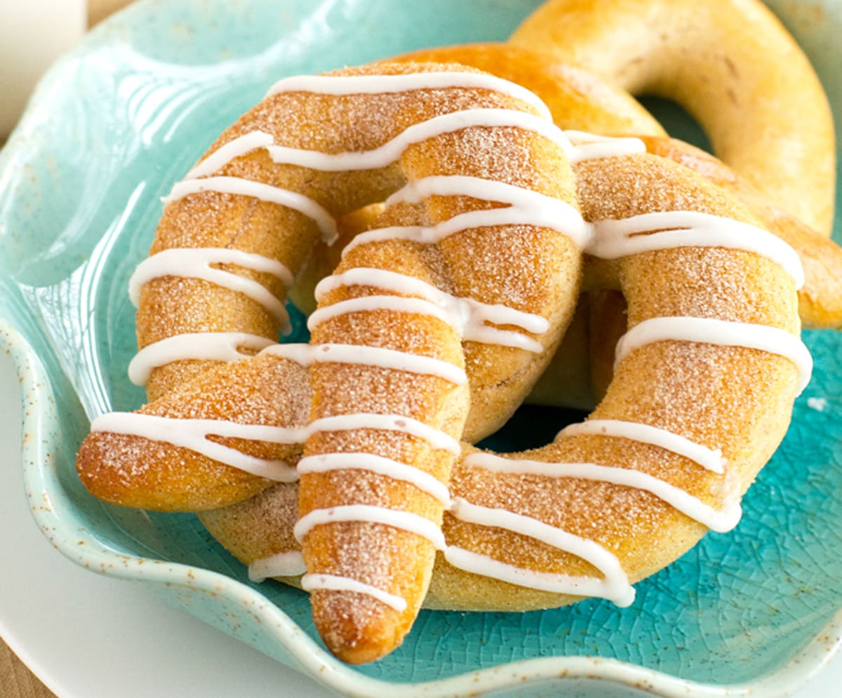
<svg viewBox="0 0 842 698"><path fill-rule="evenodd" d="M807 57L759 0L549 0L510 40L634 95L674 99L723 162L830 235L829 104Z"/></svg>

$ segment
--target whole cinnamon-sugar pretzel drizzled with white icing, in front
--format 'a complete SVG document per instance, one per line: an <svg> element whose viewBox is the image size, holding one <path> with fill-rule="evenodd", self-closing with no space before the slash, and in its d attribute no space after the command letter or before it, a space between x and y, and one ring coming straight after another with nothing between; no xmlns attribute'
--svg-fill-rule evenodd
<svg viewBox="0 0 842 698"><path fill-rule="evenodd" d="M275 344L317 241L381 201L317 286L311 343ZM560 341L586 254L628 306L604 399L540 449L477 450ZM133 280L151 402L97 418L78 470L239 529L253 577L309 590L349 662L422 604L627 605L737 523L809 380L802 281L723 189L638 139L560 131L517 84L413 62L287 78L168 197Z"/></svg>

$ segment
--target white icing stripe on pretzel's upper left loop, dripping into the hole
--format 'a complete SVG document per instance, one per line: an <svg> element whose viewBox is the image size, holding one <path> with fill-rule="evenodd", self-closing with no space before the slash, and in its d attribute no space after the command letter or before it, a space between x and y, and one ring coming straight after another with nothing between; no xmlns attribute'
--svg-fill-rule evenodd
<svg viewBox="0 0 842 698"><path fill-rule="evenodd" d="M282 189L264 182L256 182L252 179L227 176L182 179L180 182L173 184L173 190L168 196L163 197L163 202L168 204L171 201L183 199L189 194L200 194L204 191L253 196L255 199L267 201L270 204L286 206L312 219L322 232L324 242L331 244L339 237L336 230L336 221L322 205L296 191Z"/></svg>

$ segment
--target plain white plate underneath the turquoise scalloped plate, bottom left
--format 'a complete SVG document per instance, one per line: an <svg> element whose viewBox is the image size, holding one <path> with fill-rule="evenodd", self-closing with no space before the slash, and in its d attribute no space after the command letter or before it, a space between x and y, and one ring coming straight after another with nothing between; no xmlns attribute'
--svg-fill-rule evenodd
<svg viewBox="0 0 842 698"><path fill-rule="evenodd" d="M88 572L53 550L24 501L19 384L4 355L0 444L0 636L60 698L336 695L142 585ZM842 653L796 696L838 698L840 685Z"/></svg>

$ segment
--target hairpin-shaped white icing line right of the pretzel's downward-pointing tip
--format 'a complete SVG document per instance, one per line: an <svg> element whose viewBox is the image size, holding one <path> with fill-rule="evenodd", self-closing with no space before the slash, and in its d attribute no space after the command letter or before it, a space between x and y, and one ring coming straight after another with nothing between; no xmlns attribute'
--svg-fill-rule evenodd
<svg viewBox="0 0 842 698"><path fill-rule="evenodd" d="M445 559L454 567L532 589L582 596L604 595L606 599L611 599L617 605L629 605L634 599L634 589L628 583L620 562L599 543L573 535L530 516L514 514L506 509L482 507L471 504L463 498L455 498L448 510L456 519L466 523L511 530L514 533L528 535L558 550L568 551L599 569L605 575L605 580L536 573L532 570L506 565L463 548L448 546L445 549Z"/></svg>

